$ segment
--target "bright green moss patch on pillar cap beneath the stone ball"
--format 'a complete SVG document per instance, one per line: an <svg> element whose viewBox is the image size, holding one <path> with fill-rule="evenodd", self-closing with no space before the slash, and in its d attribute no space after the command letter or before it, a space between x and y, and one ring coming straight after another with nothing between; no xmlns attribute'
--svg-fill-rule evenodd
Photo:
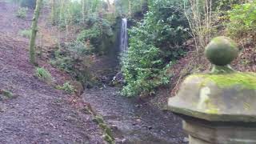
<svg viewBox="0 0 256 144"><path fill-rule="evenodd" d="M205 82L214 82L220 87L243 86L243 88L256 90L256 74L234 72L230 74L194 74L190 77L205 78Z"/></svg>

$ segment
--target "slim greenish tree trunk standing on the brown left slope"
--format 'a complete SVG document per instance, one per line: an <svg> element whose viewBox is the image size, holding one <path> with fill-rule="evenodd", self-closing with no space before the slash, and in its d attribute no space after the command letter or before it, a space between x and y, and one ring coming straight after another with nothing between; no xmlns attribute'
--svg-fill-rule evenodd
<svg viewBox="0 0 256 144"><path fill-rule="evenodd" d="M37 4L34 10L34 17L32 19L31 37L30 37L30 62L34 65L37 64L35 56L35 38L38 33L38 18L40 10L42 8L42 0L37 0Z"/></svg>

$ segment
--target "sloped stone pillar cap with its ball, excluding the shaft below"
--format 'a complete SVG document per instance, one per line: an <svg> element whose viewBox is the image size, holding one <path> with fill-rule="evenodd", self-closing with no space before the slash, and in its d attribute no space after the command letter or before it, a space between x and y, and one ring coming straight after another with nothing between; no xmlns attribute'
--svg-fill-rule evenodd
<svg viewBox="0 0 256 144"><path fill-rule="evenodd" d="M238 56L234 42L214 38L205 54L213 72L187 77L178 95L169 99L170 110L211 122L256 122L256 74L228 66Z"/></svg>

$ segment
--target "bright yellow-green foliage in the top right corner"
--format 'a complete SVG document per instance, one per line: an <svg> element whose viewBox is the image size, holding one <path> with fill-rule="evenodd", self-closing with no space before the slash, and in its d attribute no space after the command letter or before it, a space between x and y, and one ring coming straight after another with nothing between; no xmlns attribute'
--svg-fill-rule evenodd
<svg viewBox="0 0 256 144"><path fill-rule="evenodd" d="M256 1L235 5L229 11L230 22L227 25L232 35L256 34Z"/></svg>

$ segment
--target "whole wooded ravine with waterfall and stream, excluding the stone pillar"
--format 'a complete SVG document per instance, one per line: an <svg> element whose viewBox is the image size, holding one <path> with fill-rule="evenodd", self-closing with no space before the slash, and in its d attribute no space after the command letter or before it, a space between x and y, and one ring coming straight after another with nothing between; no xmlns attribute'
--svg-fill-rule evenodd
<svg viewBox="0 0 256 144"><path fill-rule="evenodd" d="M254 0L0 0L0 143L188 143L166 110L210 40L256 72Z"/></svg>

